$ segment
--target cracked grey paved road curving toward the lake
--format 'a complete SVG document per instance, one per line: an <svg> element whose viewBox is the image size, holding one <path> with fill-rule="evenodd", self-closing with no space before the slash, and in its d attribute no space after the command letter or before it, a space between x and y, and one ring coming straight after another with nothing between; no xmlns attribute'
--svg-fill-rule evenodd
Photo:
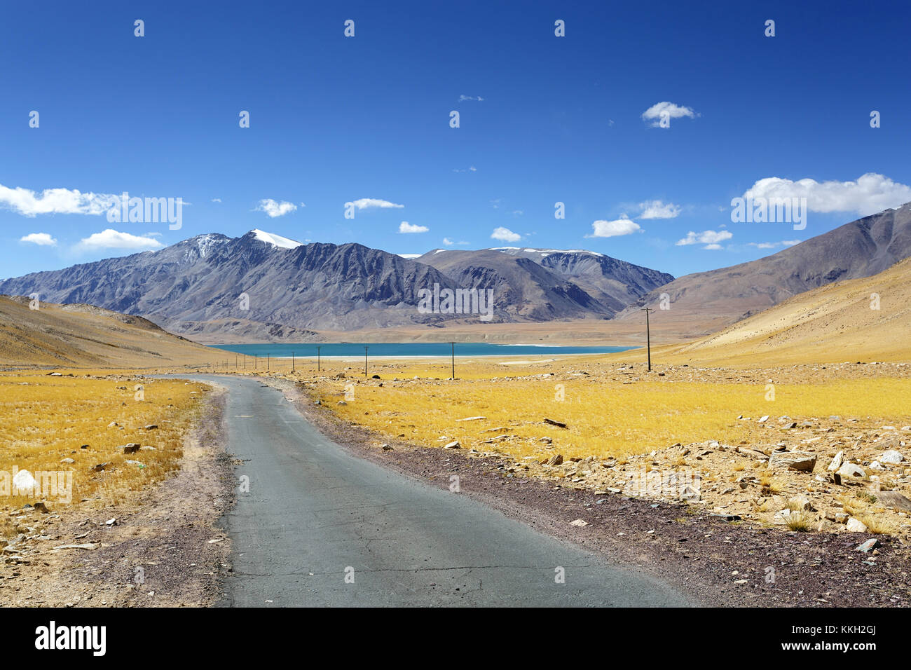
<svg viewBox="0 0 911 670"><path fill-rule="evenodd" d="M222 605L691 604L466 496L352 456L255 379L191 378L229 389L227 446L243 460L237 476L250 478L223 520L234 576Z"/></svg>

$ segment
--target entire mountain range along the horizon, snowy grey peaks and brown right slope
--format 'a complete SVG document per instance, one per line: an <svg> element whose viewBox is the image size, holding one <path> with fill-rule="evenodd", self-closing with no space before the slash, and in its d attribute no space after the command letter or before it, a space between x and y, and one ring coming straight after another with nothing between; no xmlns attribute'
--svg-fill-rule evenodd
<svg viewBox="0 0 911 670"><path fill-rule="evenodd" d="M749 263L677 279L585 250L435 249L405 258L362 244L303 244L253 230L239 238L203 234L155 252L7 279L0 294L94 304L210 342L483 327L476 314L419 308L422 294L447 289L492 290L494 324L594 319L609 333L610 324L641 319L641 307L650 306L654 319L672 321L680 335L703 335L794 295L881 273L909 256L911 203Z"/></svg>

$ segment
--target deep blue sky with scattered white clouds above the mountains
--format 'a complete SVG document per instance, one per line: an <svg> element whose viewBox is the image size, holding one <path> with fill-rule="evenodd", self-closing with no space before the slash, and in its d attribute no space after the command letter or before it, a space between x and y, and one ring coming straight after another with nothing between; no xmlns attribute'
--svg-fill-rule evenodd
<svg viewBox="0 0 911 670"><path fill-rule="evenodd" d="M0 277L253 228L679 276L911 201L906 4L125 5L5 7ZM806 229L732 222L751 189L807 197ZM108 222L123 191L182 198L182 227ZM402 207L345 218L366 199Z"/></svg>

